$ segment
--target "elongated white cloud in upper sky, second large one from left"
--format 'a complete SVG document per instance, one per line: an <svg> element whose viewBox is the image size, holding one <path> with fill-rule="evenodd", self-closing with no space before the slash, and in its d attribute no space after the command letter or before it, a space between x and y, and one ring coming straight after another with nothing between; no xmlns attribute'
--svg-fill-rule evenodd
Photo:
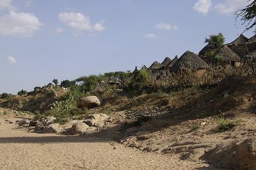
<svg viewBox="0 0 256 170"><path fill-rule="evenodd" d="M87 30L91 32L101 32L105 30L101 23L91 24L90 18L82 13L63 12L59 13L60 21L68 24L68 27L76 31Z"/></svg>

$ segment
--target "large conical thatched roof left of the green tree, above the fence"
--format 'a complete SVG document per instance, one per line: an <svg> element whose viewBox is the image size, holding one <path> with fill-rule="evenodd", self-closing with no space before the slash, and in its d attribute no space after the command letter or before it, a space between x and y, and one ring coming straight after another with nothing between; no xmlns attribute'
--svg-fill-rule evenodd
<svg viewBox="0 0 256 170"><path fill-rule="evenodd" d="M172 66L171 72L177 73L180 70L191 69L193 71L206 69L207 63L195 53L187 51L180 56L179 60Z"/></svg>

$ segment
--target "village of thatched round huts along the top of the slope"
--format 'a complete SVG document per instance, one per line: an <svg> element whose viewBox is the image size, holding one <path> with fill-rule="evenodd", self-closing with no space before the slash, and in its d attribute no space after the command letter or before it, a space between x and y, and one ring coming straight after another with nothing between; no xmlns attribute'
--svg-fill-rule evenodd
<svg viewBox="0 0 256 170"><path fill-rule="evenodd" d="M256 35L246 38L241 34L234 41L214 49L207 44L200 52L187 51L180 58L176 55L172 60L166 57L162 63L155 61L151 66L141 67L141 70L149 70L152 73L163 75L164 72L181 73L184 70L192 70L202 74L208 66L213 67L239 67L243 61L256 62ZM137 67L133 73L137 72Z"/></svg>

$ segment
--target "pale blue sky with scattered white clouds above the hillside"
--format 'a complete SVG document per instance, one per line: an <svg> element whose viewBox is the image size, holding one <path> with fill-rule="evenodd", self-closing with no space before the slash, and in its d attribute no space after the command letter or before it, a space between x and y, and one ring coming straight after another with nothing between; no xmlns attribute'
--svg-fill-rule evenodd
<svg viewBox="0 0 256 170"><path fill-rule="evenodd" d="M246 0L0 0L0 93L133 70L244 31ZM245 32L250 38L252 30Z"/></svg>

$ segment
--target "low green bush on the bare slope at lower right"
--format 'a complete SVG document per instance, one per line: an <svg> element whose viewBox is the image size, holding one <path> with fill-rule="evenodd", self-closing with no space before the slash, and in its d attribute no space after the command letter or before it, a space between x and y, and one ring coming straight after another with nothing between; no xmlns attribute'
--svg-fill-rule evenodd
<svg viewBox="0 0 256 170"><path fill-rule="evenodd" d="M219 132L229 131L233 127L240 125L241 122L241 120L230 120L229 118L221 117L217 120L217 129Z"/></svg>

